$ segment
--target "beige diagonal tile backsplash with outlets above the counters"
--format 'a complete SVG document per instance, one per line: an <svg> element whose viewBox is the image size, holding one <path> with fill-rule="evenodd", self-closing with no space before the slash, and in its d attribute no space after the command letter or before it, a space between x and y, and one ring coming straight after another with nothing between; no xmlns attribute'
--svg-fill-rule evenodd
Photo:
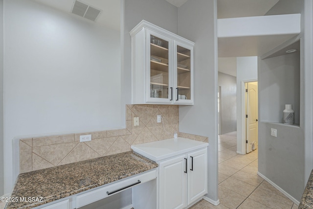
<svg viewBox="0 0 313 209"><path fill-rule="evenodd" d="M161 115L164 128L156 122ZM139 126L133 118L139 117ZM207 141L208 138L179 133L178 105L126 105L126 128L20 139L20 173L75 163L131 150L132 144L179 137ZM79 142L80 135L91 134L91 141Z"/></svg>

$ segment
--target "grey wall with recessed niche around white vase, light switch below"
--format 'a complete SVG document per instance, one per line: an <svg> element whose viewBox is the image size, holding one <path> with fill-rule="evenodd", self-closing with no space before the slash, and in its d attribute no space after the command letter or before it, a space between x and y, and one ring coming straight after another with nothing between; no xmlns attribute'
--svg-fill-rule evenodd
<svg viewBox="0 0 313 209"><path fill-rule="evenodd" d="M303 88L300 88L299 53L259 59L258 81L258 171L287 192L291 200L299 202L305 185L303 124L282 124L287 103L292 104L295 123L299 124L300 120L300 89ZM277 130L277 137L270 136L271 128Z"/></svg>

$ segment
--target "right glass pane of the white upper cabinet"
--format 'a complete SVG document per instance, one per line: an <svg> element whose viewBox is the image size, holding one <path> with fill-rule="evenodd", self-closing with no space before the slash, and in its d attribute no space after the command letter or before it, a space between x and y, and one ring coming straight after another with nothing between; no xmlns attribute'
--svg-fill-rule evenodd
<svg viewBox="0 0 313 209"><path fill-rule="evenodd" d="M179 99L191 99L190 50L177 46L177 87Z"/></svg>

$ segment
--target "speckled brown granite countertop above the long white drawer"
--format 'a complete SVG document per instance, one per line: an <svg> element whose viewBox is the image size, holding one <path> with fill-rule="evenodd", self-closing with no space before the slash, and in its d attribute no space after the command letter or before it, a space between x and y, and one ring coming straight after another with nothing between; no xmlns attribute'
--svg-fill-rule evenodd
<svg viewBox="0 0 313 209"><path fill-rule="evenodd" d="M70 163L18 176L5 209L30 209L45 203L106 185L157 167L157 164L134 151ZM43 197L42 202L20 201L20 197Z"/></svg>

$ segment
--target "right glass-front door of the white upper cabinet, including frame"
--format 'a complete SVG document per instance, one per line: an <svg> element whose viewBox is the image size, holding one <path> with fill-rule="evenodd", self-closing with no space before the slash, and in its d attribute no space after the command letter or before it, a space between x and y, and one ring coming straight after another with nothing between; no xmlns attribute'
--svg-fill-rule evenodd
<svg viewBox="0 0 313 209"><path fill-rule="evenodd" d="M193 104L193 47L175 42L175 103Z"/></svg>

